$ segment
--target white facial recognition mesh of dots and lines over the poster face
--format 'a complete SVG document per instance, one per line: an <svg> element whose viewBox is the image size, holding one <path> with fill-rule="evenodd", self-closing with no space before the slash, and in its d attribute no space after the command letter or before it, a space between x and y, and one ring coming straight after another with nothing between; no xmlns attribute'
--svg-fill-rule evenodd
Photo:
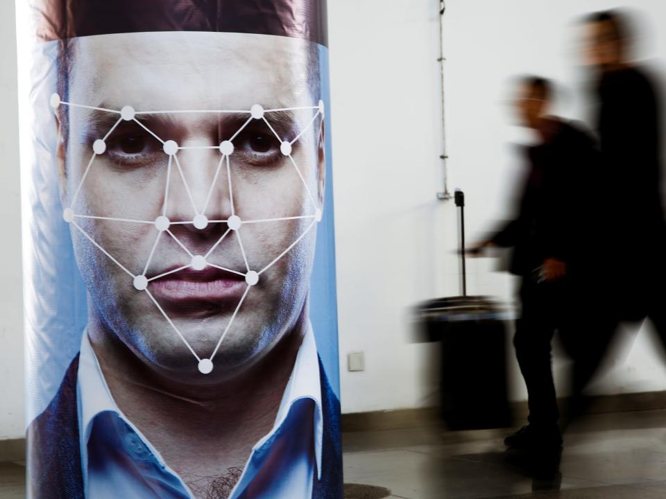
<svg viewBox="0 0 666 499"><path fill-rule="evenodd" d="M178 335L178 338L182 340L183 344L185 344L185 347L187 347L192 356L194 356L194 358L197 361L197 367L200 373L210 374L210 372L214 367L213 364L214 357L216 356L216 353L219 350L225 338L225 335L231 328L234 322L234 318L236 317L241 306L243 305L248 295L248 292L250 292L250 288L253 288L253 286L257 286L257 284L259 283L259 279L262 277L262 274L264 274L266 270L275 265L275 263L278 263L280 259L287 256L287 254L289 254L289 252L291 252L291 250L294 249L298 245L298 243L300 243L300 240L307 235L307 233L314 227L314 225L317 222L321 222L321 218L323 216L323 211L322 211L323 207L312 194L308 186L308 183L305 180L305 177L301 173L301 170L296 164L296 160L294 159L291 153L293 151L294 144L302 137L302 134L309 131L311 132L310 129L313 128L314 123L316 123L316 121L321 122L321 119L323 119L324 115L323 100L319 100L316 106L284 107L281 109L264 110L264 107L262 107L262 105L255 104L252 107L250 107L249 110L240 110L240 111L238 110L136 111L130 105L123 106L120 110L109 110L102 107L94 107L80 103L64 102L60 99L60 96L58 94L52 94L51 98L49 99L49 102L54 110L57 110L58 107L60 107L61 105L71 106L71 107L82 107L87 110L93 110L95 112L100 112L103 114L110 114L114 116L114 118L117 118L116 121L111 126L110 130L108 130L108 132L106 132L103 137L95 139L94 142L92 143L92 153L90 155L90 160L88 161L87 166L83 171L83 175L81 175L80 177L78 186L76 186L74 195L71 198L71 202L69 202L69 205L65 207L65 209L63 209L62 211L62 218L65 220L65 222L76 227L76 229L80 231L80 233L85 238L87 238L87 240L89 240L89 242L92 243L92 245L94 245L94 247L96 247L96 249L98 249L99 252L104 254L104 256L108 257L108 259L110 259L112 263L117 265L118 268L120 268L123 272L128 274L128 279L131 279L132 286L135 288L135 290L145 292L146 295L148 295L148 298L151 299L153 304L155 304L157 310L159 310L160 313L164 316L164 319L169 323L169 326L171 326L174 333ZM293 137L291 140L287 140L285 137L281 137L280 134L278 134L278 132L275 131L273 125L271 125L271 120L267 118L267 116L271 116L271 114L302 111L302 110L311 111L312 118L308 121L307 125L305 125L305 128L298 131L296 137ZM140 120L141 116L157 115L157 114L213 114L213 115L234 114L243 117L247 116L247 119L243 122L242 125L240 125L238 130L232 133L229 139L225 139L217 145L179 146L176 141L173 141L171 139L169 140L162 139L155 132L153 132L153 130L148 128L148 126L144 125L144 123ZM232 164L231 158L234 156L234 149L235 149L234 141L236 141L237 137L241 136L244 130L248 127L248 125L250 125L250 123L255 120L263 121L264 125L266 125L266 128L268 128L268 130L270 130L270 132L275 136L275 139L277 140L276 145L279 144L280 154L289 159L289 163L291 164L291 166L293 166L293 171L295 173L293 181L298 183L300 189L304 190L307 193L307 201L309 202L308 203L309 209L308 208L306 208L305 210L301 209L298 211L298 213L292 215L278 216L278 217L274 216L273 218L264 218L264 219L242 220L238 216L237 211L235 209L236 203L234 202L234 193L233 193L234 182L232 180L232 166L231 166ZM163 178L164 194L162 195L162 203L161 203L162 208L157 213L157 216L155 217L154 220L140 220L138 218L119 218L114 216L99 216L99 215L77 213L78 210L76 209L77 206L76 201L81 193L81 190L85 186L86 177L90 173L90 170L94 168L96 158L101 157L102 155L105 154L105 152L107 152L107 147L108 147L107 141L110 141L110 143L114 144L113 133L119 127L119 125L123 123L123 121L133 122L134 126L137 126L142 129L139 130L139 134L136 134L136 137L132 136L132 139L125 139L128 142L127 144L123 143L119 146L119 148L121 148L125 152L127 149L130 148L136 149L139 147L136 146L135 143L130 143L130 142L140 141L141 139L138 137L141 137L141 135L144 134L144 132L149 134L151 137L153 137L153 139L155 139L157 142L159 142L162 145L162 150L164 152L164 157L165 157L164 163L166 164L166 166L162 168L164 170L162 173L162 176L164 177ZM254 137L254 139L257 141L270 140L266 139L266 137L263 136ZM262 150L263 148L267 147L268 146L264 144L260 144L259 146L257 146L258 150ZM214 150L216 154L219 151L219 161L217 162L217 165L214 168L214 173L210 175L212 177L210 187L203 191L205 197L201 196L199 199L195 199L197 198L197 196L193 194L193 189L190 189L190 186L187 183L187 176L185 174L186 168L181 166L180 159L178 159L179 152L184 150L203 150L203 151ZM173 168L173 166L176 166L176 168ZM224 173L220 175L222 170L224 170ZM176 174L178 175L178 180L182 182L181 187L182 189L184 189L185 193L187 194L187 199L191 204L190 220L179 219L172 221L167 216L169 213L168 211L169 189L171 189L171 184L172 184L171 182L172 171L173 175ZM223 188L221 188L218 182L221 182ZM210 214L210 212L213 211L213 209L210 208L211 198L213 197L214 191L216 190L219 191L221 189L225 189L226 194L229 197L228 216L227 218L225 218L225 220L210 220L206 216L206 213ZM303 211L309 214L302 214ZM119 222L124 224L145 224L153 226L155 230L152 231L152 234L147 235L148 238L152 236L154 240L154 242L151 245L150 253L146 257L146 263L143 266L139 265L137 267L137 268L142 268L142 270L140 272L135 273L132 270L126 268L125 265L120 263L117 257L110 254L83 227L81 227L80 220L83 219L105 220L109 222ZM305 228L305 230L302 231L302 234L298 235L296 240L293 240L293 242L289 244L289 246L287 246L282 252L280 252L280 254L275 256L275 258L271 259L269 263L266 263L266 265L264 265L262 268L256 268L256 269L250 268L248 255L246 254L246 250L243 245L243 239L241 237L241 227L243 227L243 225L248 225L248 224L266 224L273 222L287 222L290 220L307 220L307 227ZM173 231L173 227L175 227L176 225L187 225L194 227L194 230L204 231L213 224L222 225L221 227L222 234L221 236L219 236L219 238L218 237L214 238L216 240L214 240L212 246L210 246L210 248L208 248L204 254L193 253L190 249L188 249L187 245L185 245L182 242L182 240L180 240L180 238L178 238L178 236L174 234ZM160 244L160 238L163 236L163 234L167 234L169 238L171 238L178 245L178 247L182 249L182 251L185 253L186 263L184 265L176 266L176 268L170 268L169 270L164 270L164 267L158 266L158 268L162 268L164 272L160 272L159 274L151 276L148 275L148 270L151 268L151 263L153 263L153 258L155 257L155 250ZM212 258L212 256L215 253L215 250L221 245L221 243L223 243L223 241L228 236L231 235L233 235L237 241L238 249L240 251L243 260L243 266L237 269L228 268L223 265L213 263L214 259ZM259 251L261 251L261 248L259 248ZM214 269L210 270L209 272L210 274L212 274L211 276L205 274L205 271L208 268ZM171 295L171 291L175 291L176 293L178 293L180 292L180 290L176 289L167 290L167 287L169 285L171 285L171 288L175 288L177 286L177 283L171 283L171 281L168 281L167 278L169 276L173 276L173 274L177 274L178 272L185 273L188 271L189 271L188 277L191 277L193 281L198 281L199 277L201 277L202 279L205 279L206 277L215 277L216 279L222 281L221 286L223 288L232 288L232 286L230 286L227 283L227 281L231 281L232 279L240 281L240 279L238 279L237 277L240 277L242 281L245 281L245 287L242 291L239 291L238 293L240 294L240 299L238 300L237 305L234 307L234 311L231 317L228 319L228 322L226 323L218 342L216 342L214 350L208 354L202 353L200 355L194 350L194 348L191 346L191 342L189 342L185 338L185 336L179 331L178 326L174 324L173 320L171 320L171 318L169 317L169 314L164 310L164 308L160 305L159 301L157 301L157 299L149 289L155 286L156 283L164 283L166 281L168 284L165 284L163 288L160 288L159 292L162 292L162 294L166 294L167 296ZM205 290L193 290L194 293L200 291L202 295L207 295L211 287L208 283L206 283L205 285L199 283L196 286L199 287L205 286L206 288ZM227 289L220 290L221 291L219 293L220 297L224 297L224 295L226 294L225 293L226 290Z"/></svg>

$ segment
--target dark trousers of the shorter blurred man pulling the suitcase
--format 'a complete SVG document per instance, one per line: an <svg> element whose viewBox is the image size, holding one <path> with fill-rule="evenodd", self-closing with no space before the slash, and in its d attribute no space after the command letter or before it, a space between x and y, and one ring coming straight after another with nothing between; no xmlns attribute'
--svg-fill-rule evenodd
<svg viewBox="0 0 666 499"><path fill-rule="evenodd" d="M556 424L559 418L551 342L563 322L565 286L565 281L537 283L526 276L520 288L522 314L516 322L513 345L527 385L529 422L536 426Z"/></svg>

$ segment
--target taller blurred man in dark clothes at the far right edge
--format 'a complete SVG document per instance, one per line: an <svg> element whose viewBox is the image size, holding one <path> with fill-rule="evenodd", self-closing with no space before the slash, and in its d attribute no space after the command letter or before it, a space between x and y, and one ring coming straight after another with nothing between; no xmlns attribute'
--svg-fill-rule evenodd
<svg viewBox="0 0 666 499"><path fill-rule="evenodd" d="M574 410L617 325L651 319L666 344L666 223L661 200L661 104L654 76L633 61L633 34L620 11L584 21L587 63L595 71L597 130L603 175L594 195L604 215L591 229L598 240L592 288L595 309L577 339ZM576 399L578 399L576 401Z"/></svg>

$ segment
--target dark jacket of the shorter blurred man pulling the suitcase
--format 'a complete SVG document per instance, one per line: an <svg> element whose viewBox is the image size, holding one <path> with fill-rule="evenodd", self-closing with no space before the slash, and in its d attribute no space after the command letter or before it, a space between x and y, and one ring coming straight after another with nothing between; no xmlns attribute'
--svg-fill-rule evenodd
<svg viewBox="0 0 666 499"><path fill-rule="evenodd" d="M509 270L528 277L547 258L581 265L590 247L590 182L599 165L592 138L571 123L558 123L553 137L526 149L529 168L517 214L493 236L513 247Z"/></svg>

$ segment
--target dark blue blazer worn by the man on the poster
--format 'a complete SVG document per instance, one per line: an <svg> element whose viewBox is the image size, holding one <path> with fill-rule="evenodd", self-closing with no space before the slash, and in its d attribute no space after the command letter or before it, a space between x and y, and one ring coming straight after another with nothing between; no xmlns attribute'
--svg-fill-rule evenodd
<svg viewBox="0 0 666 499"><path fill-rule="evenodd" d="M58 393L28 427L28 487L33 499L83 499L76 380L78 355ZM340 402L319 359L323 410L321 480L314 478L312 499L342 499ZM138 498L137 498L138 499Z"/></svg>

